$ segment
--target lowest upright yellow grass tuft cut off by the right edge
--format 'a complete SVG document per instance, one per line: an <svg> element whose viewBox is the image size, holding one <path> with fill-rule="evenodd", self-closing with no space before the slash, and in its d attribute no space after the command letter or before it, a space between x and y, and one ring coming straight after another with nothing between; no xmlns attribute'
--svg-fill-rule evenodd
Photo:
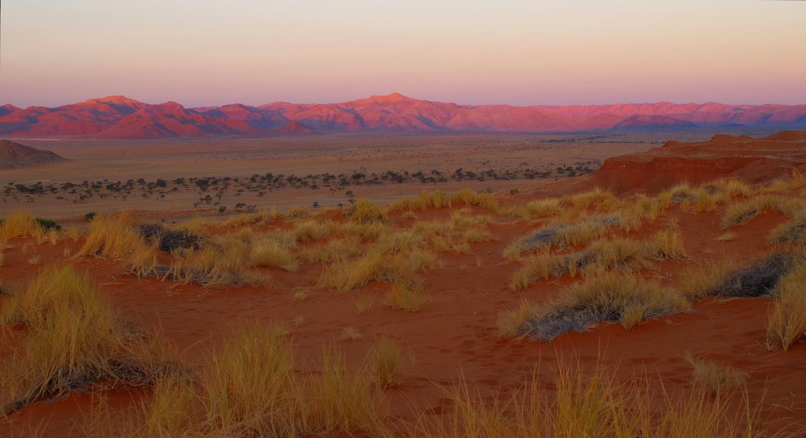
<svg viewBox="0 0 806 438"><path fill-rule="evenodd" d="M789 349L806 338L806 263L780 279L767 321L767 349Z"/></svg>

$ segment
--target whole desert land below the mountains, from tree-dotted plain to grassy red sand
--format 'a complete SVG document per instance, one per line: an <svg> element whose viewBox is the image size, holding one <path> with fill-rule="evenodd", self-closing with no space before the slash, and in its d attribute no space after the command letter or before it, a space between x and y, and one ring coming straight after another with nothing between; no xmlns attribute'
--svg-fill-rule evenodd
<svg viewBox="0 0 806 438"><path fill-rule="evenodd" d="M2 436L806 434L803 131L14 141Z"/></svg>

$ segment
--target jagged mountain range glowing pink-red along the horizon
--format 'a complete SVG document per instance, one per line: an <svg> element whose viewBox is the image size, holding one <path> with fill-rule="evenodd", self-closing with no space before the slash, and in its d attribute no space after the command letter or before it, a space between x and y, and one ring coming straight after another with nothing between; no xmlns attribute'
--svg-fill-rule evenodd
<svg viewBox="0 0 806 438"><path fill-rule="evenodd" d="M274 102L185 108L123 96L56 108L0 106L0 135L158 139L267 137L349 131L588 131L696 126L806 126L806 105L651 104L458 105L399 93L330 104Z"/></svg>

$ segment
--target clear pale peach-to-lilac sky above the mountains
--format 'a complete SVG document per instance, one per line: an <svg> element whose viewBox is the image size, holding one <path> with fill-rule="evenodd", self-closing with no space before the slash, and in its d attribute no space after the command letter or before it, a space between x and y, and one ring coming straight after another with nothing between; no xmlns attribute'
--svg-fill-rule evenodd
<svg viewBox="0 0 806 438"><path fill-rule="evenodd" d="M806 104L806 2L2 0L0 103Z"/></svg>

